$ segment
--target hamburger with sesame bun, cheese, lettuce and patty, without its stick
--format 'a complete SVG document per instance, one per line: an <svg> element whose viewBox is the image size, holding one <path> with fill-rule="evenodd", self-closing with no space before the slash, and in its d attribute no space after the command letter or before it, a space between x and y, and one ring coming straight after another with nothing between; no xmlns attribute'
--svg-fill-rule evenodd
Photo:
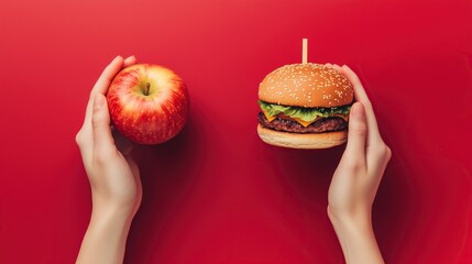
<svg viewBox="0 0 472 264"><path fill-rule="evenodd" d="M257 134L292 148L328 148L348 139L354 91L336 69L304 63L282 66L259 86Z"/></svg>

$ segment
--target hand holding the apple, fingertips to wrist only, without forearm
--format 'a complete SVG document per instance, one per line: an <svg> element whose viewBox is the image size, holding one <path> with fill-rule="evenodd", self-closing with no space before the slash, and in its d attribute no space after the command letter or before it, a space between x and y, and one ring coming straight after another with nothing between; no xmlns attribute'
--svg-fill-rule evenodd
<svg viewBox="0 0 472 264"><path fill-rule="evenodd" d="M106 67L90 92L84 124L76 135L94 208L111 207L133 215L142 198L140 174L130 155L132 144L111 130L105 95L118 72L134 63L134 56L118 56Z"/></svg>

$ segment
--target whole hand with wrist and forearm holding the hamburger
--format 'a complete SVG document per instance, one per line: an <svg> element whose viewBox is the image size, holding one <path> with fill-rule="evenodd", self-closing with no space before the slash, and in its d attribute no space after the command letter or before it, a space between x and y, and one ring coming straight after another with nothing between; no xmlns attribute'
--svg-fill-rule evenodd
<svg viewBox="0 0 472 264"><path fill-rule="evenodd" d="M354 87L345 151L328 193L328 216L348 263L383 263L372 228L372 205L392 156L378 132L372 103L348 66L327 65Z"/></svg>

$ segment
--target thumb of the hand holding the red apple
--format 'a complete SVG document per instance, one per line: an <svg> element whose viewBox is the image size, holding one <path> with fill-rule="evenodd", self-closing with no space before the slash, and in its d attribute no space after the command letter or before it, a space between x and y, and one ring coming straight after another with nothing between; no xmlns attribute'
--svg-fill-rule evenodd
<svg viewBox="0 0 472 264"><path fill-rule="evenodd" d="M101 94L96 94L94 97L91 125L94 130L94 151L103 153L110 150L110 146L114 145L114 140L111 135L107 100Z"/></svg>

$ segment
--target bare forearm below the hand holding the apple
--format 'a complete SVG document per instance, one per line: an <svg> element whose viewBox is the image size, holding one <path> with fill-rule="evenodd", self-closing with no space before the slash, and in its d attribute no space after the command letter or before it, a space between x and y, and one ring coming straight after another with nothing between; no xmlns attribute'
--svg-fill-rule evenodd
<svg viewBox="0 0 472 264"><path fill-rule="evenodd" d="M94 209L76 263L123 263L132 218L119 210Z"/></svg>

